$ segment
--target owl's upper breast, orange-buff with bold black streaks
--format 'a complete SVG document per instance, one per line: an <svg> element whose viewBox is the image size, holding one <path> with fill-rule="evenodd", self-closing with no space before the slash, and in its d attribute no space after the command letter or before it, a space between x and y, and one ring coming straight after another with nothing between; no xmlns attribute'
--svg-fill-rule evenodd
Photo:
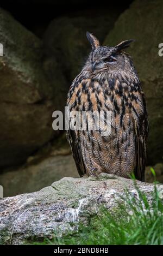
<svg viewBox="0 0 163 256"><path fill-rule="evenodd" d="M110 112L111 129L115 133L127 129L131 132L133 123L139 122L140 116L144 114L141 88L120 83L118 79L103 79L100 82L82 79L74 82L67 105L70 111L91 111L99 115L103 111Z"/></svg>

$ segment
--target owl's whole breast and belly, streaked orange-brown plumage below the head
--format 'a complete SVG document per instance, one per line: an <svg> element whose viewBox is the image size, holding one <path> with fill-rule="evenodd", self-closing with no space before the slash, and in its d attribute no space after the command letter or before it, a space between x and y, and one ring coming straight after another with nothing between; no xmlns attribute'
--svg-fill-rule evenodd
<svg viewBox="0 0 163 256"><path fill-rule="evenodd" d="M146 118L146 107L139 80L106 76L97 80L80 74L70 88L67 106L70 112L82 114L81 117L87 113L84 122L80 115L79 119L77 115L72 118L82 119L82 129L69 130L78 168L84 163L84 170L91 175L104 171L128 177L134 170L136 156L141 162L140 141L142 143L146 128L140 125ZM99 114L102 127L95 127L98 118L91 114L95 112ZM77 122L74 123L77 128ZM106 134L103 133L105 128Z"/></svg>

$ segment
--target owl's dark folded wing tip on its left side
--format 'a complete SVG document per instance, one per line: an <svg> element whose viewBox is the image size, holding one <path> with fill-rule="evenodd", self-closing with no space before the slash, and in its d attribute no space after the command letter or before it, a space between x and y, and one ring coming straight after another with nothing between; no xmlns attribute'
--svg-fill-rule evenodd
<svg viewBox="0 0 163 256"><path fill-rule="evenodd" d="M86 170L77 133L74 130L69 129L67 131L67 140L71 146L72 156L76 163L79 175L82 177L84 174L86 174Z"/></svg>

